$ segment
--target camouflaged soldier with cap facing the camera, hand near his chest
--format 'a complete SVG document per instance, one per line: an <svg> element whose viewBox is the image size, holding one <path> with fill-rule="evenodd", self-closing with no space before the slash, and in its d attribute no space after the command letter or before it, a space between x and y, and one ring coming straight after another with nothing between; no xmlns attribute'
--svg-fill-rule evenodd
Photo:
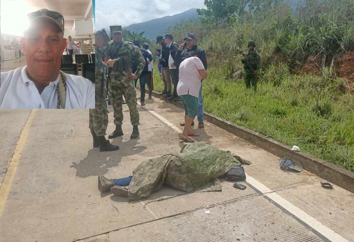
<svg viewBox="0 0 354 242"><path fill-rule="evenodd" d="M123 135L123 109L122 94L129 107L130 123L133 131L130 139L139 137L139 112L137 107L137 93L134 87L134 79L137 79L145 66L145 59L139 49L133 43L124 41L123 31L120 25L109 26L112 40L108 42L106 56L111 59L118 59L111 68L110 80L108 82L108 93L114 110L115 131L108 136L113 139ZM137 71L132 73L132 63L138 63Z"/></svg>

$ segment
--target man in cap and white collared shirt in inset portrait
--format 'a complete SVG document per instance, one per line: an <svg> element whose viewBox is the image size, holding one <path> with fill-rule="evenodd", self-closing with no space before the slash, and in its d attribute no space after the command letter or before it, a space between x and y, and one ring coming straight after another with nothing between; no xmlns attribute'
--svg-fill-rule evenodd
<svg viewBox="0 0 354 242"><path fill-rule="evenodd" d="M1 108L95 108L91 81L60 72L64 18L47 9L27 15L21 46L27 66L1 73Z"/></svg>

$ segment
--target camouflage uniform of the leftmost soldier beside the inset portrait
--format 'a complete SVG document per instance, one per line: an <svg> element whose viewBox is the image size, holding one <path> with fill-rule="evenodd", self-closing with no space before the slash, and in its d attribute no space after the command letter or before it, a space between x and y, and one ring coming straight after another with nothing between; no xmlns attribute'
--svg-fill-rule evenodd
<svg viewBox="0 0 354 242"><path fill-rule="evenodd" d="M106 64L102 61L103 49L96 48L95 54L95 109L90 109L89 127L96 136L106 135L108 125ZM102 82L102 77L104 78ZM103 87L102 87L103 85ZM101 90L102 87L102 90ZM101 93L102 91L102 93Z"/></svg>

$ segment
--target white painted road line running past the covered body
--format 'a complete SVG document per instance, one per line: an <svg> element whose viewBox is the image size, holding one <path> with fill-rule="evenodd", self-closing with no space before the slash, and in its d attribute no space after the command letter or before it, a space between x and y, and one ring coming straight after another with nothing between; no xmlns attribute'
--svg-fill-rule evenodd
<svg viewBox="0 0 354 242"><path fill-rule="evenodd" d="M140 104L140 102L139 102L139 104ZM154 116L156 116L158 119L160 119L163 123L165 123L166 125L171 127L176 132L182 133L182 131L179 128L177 128L175 125L173 125L171 122L169 122L166 118L162 117L160 114L156 113L155 111L151 110L148 107L145 107L145 106L142 106L142 107L145 110L149 111ZM271 200L272 202L277 204L279 207L283 208L288 213L292 214L292 216L299 219L300 221L302 221L302 223L311 227L318 234L322 235L323 237L327 238L328 240L333 241L333 242L349 242L348 240L346 240L345 238L343 238L342 236L340 236L339 234L334 232L332 229L323 225L316 218L308 215L307 213L305 213L304 211L302 211L301 209L299 209L298 207L296 207L292 203L288 202L286 199L282 198L281 196L279 196L278 194L273 192L268 187L261 184L258 180L254 179L252 176L249 176L246 174L246 181L254 190L258 191L264 197L268 198L269 200ZM150 210L150 212L156 217L156 215L151 210Z"/></svg>

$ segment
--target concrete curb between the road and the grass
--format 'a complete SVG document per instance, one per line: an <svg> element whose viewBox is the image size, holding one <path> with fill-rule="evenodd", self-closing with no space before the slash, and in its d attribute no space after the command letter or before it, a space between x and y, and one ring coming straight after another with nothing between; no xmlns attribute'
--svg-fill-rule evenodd
<svg viewBox="0 0 354 242"><path fill-rule="evenodd" d="M139 88L139 87L138 87ZM165 100L168 103L174 104L183 108L181 102L172 102L164 97L162 93L152 92L153 96ZM223 118L215 116L211 113L204 112L204 118L213 125L216 125L248 142L256 145L263 150L266 150L279 157L290 157L293 160L299 162L305 170L312 172L319 177L328 180L351 193L354 193L354 173L332 164L328 161L314 157L305 152L295 152L287 145L284 145L274 139L265 137L257 132L247 129L237 124L227 121Z"/></svg>

